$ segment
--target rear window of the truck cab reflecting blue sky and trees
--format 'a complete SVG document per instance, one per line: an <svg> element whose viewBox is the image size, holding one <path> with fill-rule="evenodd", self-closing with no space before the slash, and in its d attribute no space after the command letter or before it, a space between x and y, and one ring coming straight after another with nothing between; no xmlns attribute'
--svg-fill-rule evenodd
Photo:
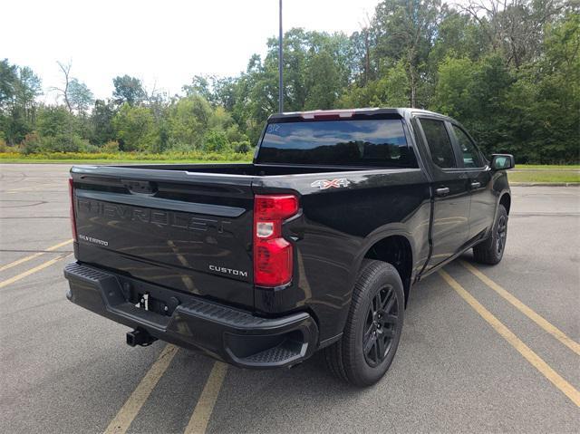
<svg viewBox="0 0 580 434"><path fill-rule="evenodd" d="M257 162L417 167L400 119L270 123Z"/></svg>

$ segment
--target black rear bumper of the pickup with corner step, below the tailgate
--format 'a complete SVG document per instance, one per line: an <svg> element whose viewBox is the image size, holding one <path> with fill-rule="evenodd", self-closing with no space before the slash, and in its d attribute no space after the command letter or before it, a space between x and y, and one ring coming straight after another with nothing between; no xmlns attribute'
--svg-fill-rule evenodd
<svg viewBox="0 0 580 434"><path fill-rule="evenodd" d="M312 355L317 344L318 328L308 313L262 318L78 263L66 265L64 276L70 285L66 296L74 304L240 367L291 366ZM160 313L136 307L139 294L163 305Z"/></svg>

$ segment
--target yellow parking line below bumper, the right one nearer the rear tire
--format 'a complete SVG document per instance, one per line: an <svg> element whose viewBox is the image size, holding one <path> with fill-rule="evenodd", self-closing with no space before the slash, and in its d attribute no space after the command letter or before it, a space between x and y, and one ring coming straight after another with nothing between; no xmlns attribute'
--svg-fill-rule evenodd
<svg viewBox="0 0 580 434"><path fill-rule="evenodd" d="M203 388L201 396L199 396L198 404L196 405L188 427L184 434L202 434L208 428L209 418L218 400L219 390L226 378L227 364L222 362L215 362L214 367L209 373L206 387Z"/></svg>

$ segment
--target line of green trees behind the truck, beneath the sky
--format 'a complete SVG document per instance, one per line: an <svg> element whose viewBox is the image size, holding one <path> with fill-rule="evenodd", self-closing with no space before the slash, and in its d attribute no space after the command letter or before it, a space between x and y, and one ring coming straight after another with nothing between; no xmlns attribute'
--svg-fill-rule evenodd
<svg viewBox="0 0 580 434"><path fill-rule="evenodd" d="M383 0L347 35L293 28L284 38L285 111L418 107L461 121L490 153L577 162L577 0ZM34 152L240 152L277 110L278 40L237 76L194 76L179 95L113 79L106 100L58 63L59 103L40 78L0 62L0 148Z"/></svg>

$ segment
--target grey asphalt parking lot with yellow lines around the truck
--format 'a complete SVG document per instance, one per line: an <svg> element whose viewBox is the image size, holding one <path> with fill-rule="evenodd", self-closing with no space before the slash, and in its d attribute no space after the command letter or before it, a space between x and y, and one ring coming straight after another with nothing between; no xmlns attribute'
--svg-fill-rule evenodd
<svg viewBox="0 0 580 434"><path fill-rule="evenodd" d="M411 290L385 378L243 371L68 302L66 165L0 166L1 432L577 432L580 188L512 188L507 251Z"/></svg>

